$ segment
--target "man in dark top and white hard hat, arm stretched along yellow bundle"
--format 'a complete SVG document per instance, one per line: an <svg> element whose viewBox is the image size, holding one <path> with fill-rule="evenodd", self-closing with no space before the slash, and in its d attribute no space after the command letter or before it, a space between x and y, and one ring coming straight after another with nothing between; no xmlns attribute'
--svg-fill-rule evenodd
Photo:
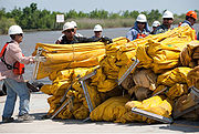
<svg viewBox="0 0 199 134"><path fill-rule="evenodd" d="M93 39L85 37L76 37L74 33L74 24L72 24L71 22L66 22L63 25L62 33L64 33L64 35L62 37L60 44L74 44L74 43L86 43L86 42L96 42L96 41L103 41L106 43L112 42L112 39L104 39L104 38Z"/></svg>

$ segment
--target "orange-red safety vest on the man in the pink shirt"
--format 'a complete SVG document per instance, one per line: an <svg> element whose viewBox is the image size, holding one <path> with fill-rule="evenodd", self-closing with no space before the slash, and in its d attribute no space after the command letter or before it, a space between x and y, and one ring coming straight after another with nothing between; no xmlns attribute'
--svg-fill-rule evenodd
<svg viewBox="0 0 199 134"><path fill-rule="evenodd" d="M10 65L6 62L4 60L4 53L6 53L6 50L7 50L7 45L9 44L10 42L7 42L4 44L4 47L2 48L1 50L1 53L0 53L0 59L1 61L7 65L7 69L8 70L12 70L14 74L17 75L21 75L24 73L24 64L20 63L19 61L14 62L13 65ZM23 54L22 54L23 55ZM24 56L24 55L23 55Z"/></svg>

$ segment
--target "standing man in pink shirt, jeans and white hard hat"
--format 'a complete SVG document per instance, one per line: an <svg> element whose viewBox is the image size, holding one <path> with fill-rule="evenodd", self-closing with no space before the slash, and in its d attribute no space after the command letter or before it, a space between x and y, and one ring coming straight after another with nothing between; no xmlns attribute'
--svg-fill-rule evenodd
<svg viewBox="0 0 199 134"><path fill-rule="evenodd" d="M4 104L2 122L13 122L13 111L17 95L20 99L18 121L31 121L33 116L29 115L30 92L22 74L24 64L44 61L44 58L24 56L20 49L23 39L23 31L19 25L9 28L9 35L12 39L6 43L0 53L0 81L7 86L7 101Z"/></svg>

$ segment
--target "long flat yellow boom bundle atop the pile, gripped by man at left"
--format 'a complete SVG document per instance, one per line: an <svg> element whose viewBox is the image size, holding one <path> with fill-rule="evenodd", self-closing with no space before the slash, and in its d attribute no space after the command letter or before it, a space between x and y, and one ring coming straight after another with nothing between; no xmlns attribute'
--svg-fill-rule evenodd
<svg viewBox="0 0 199 134"><path fill-rule="evenodd" d="M113 39L116 45L129 42L126 38ZM39 63L36 80L49 76L54 71L74 68L91 68L100 64L105 56L106 45L103 42L77 43L77 44L46 44L36 43L35 51L42 49L41 55L46 62Z"/></svg>

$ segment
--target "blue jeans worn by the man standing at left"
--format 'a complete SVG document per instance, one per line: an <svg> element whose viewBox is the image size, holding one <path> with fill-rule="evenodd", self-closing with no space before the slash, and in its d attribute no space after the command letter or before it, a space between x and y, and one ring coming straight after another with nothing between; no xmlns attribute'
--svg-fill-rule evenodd
<svg viewBox="0 0 199 134"><path fill-rule="evenodd" d="M12 79L4 79L7 86L7 101L3 110L3 117L11 117L14 111L17 95L20 99L19 115L29 113L30 91L25 82L18 82Z"/></svg>

